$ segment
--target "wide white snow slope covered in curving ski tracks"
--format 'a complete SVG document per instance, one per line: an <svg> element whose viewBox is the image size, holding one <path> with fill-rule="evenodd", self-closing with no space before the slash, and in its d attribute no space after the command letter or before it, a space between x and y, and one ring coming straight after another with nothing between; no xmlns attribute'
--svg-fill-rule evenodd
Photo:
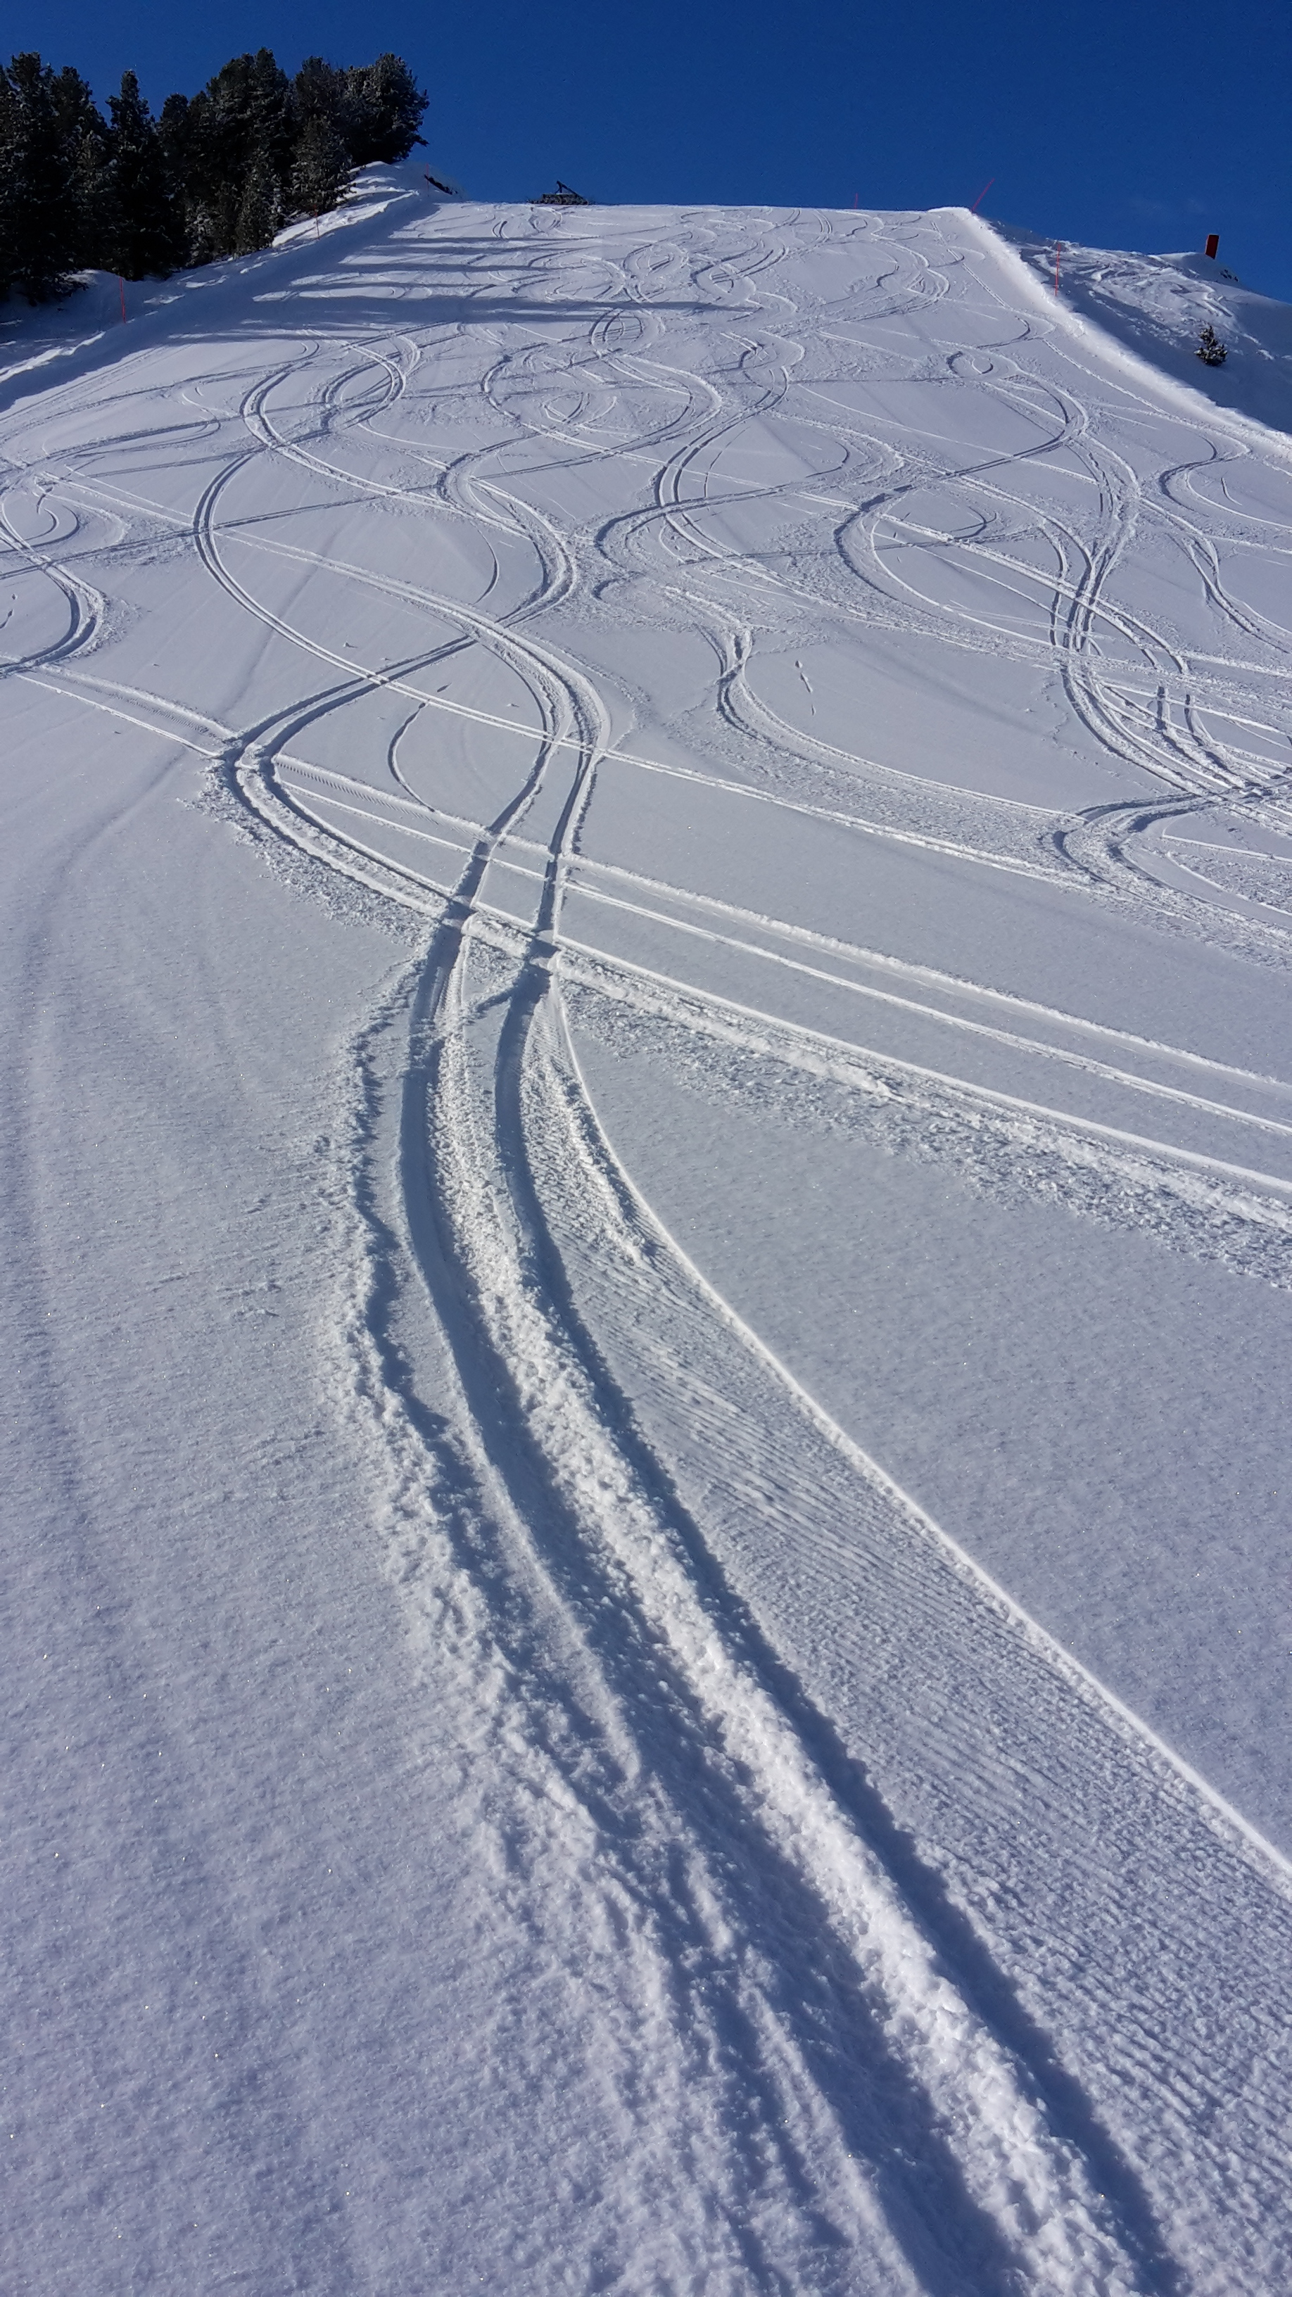
<svg viewBox="0 0 1292 2297"><path fill-rule="evenodd" d="M0 2283L1290 2290L1292 448L287 241L0 381Z"/></svg>

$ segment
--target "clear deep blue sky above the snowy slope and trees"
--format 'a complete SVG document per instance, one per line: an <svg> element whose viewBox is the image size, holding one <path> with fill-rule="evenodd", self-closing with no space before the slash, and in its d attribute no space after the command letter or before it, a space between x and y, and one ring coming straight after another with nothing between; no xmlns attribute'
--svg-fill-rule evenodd
<svg viewBox="0 0 1292 2297"><path fill-rule="evenodd" d="M1110 248L1200 248L1292 301L1287 0L9 0L7 51L154 106L241 48L395 48L430 90L428 161L474 198L556 175L598 200L970 204Z"/></svg>

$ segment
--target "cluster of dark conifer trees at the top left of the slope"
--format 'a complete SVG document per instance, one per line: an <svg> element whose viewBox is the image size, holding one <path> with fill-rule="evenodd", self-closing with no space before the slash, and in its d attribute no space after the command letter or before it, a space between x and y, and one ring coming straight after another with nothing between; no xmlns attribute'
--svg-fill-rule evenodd
<svg viewBox="0 0 1292 2297"><path fill-rule="evenodd" d="M0 67L0 296L67 294L87 269L126 280L267 248L292 216L336 207L354 168L407 158L425 92L398 55L234 55L154 119L133 71L108 117L83 76L39 55Z"/></svg>

